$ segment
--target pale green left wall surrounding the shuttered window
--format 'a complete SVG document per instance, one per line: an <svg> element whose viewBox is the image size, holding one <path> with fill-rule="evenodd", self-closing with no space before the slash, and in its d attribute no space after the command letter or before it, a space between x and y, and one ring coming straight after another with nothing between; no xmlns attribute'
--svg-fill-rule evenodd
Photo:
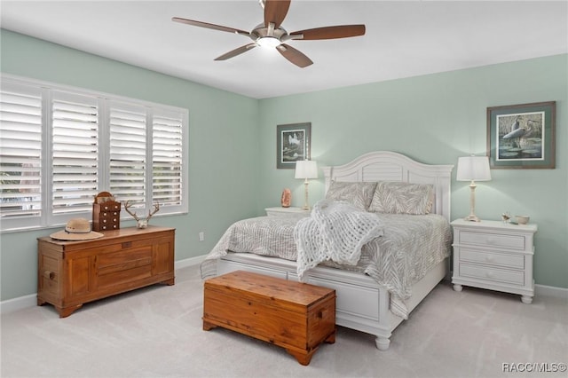
<svg viewBox="0 0 568 378"><path fill-rule="evenodd" d="M229 224L256 215L258 100L4 29L0 38L3 74L189 110L189 213L152 219L176 227L177 260L207 254ZM1 300L36 293L36 238L55 230L1 235Z"/></svg>

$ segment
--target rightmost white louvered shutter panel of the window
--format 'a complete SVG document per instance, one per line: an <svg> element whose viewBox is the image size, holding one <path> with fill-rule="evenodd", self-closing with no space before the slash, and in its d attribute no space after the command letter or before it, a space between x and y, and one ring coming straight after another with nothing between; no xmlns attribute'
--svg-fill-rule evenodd
<svg viewBox="0 0 568 378"><path fill-rule="evenodd" d="M182 203L183 114L154 110L152 196L161 206Z"/></svg>

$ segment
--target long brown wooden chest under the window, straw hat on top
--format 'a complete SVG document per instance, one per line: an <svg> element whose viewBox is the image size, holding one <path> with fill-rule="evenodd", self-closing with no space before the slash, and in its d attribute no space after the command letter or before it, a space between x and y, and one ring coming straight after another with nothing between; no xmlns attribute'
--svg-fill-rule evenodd
<svg viewBox="0 0 568 378"><path fill-rule="evenodd" d="M95 240L38 238L37 304L65 318L83 303L155 283L173 285L175 229L106 231Z"/></svg>

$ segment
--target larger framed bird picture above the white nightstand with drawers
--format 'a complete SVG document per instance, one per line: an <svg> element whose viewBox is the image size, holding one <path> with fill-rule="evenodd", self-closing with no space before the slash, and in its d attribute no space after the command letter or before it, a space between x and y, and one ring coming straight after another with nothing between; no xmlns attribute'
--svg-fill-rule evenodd
<svg viewBox="0 0 568 378"><path fill-rule="evenodd" d="M556 101L487 107L493 169L555 168Z"/></svg>

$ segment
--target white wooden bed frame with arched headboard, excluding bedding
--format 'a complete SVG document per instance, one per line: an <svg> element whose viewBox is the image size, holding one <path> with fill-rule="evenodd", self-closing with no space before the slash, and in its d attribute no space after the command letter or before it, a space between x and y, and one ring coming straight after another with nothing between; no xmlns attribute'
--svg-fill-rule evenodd
<svg viewBox="0 0 568 378"><path fill-rule="evenodd" d="M431 209L449 221L450 183L453 165L427 165L408 157L379 151L364 154L340 166L324 167L326 191L332 181L376 182L398 181L434 186L435 198ZM446 276L447 258L436 264L422 280L412 286L412 296L406 308L412 311L438 282ZM249 253L228 253L217 261L217 275L243 270L298 280L296 262L281 258L258 256ZM360 272L343 271L317 266L307 272L304 281L334 288L337 295L336 324L375 335L376 347L387 350L390 335L403 318L390 311L390 293L371 277Z"/></svg>

